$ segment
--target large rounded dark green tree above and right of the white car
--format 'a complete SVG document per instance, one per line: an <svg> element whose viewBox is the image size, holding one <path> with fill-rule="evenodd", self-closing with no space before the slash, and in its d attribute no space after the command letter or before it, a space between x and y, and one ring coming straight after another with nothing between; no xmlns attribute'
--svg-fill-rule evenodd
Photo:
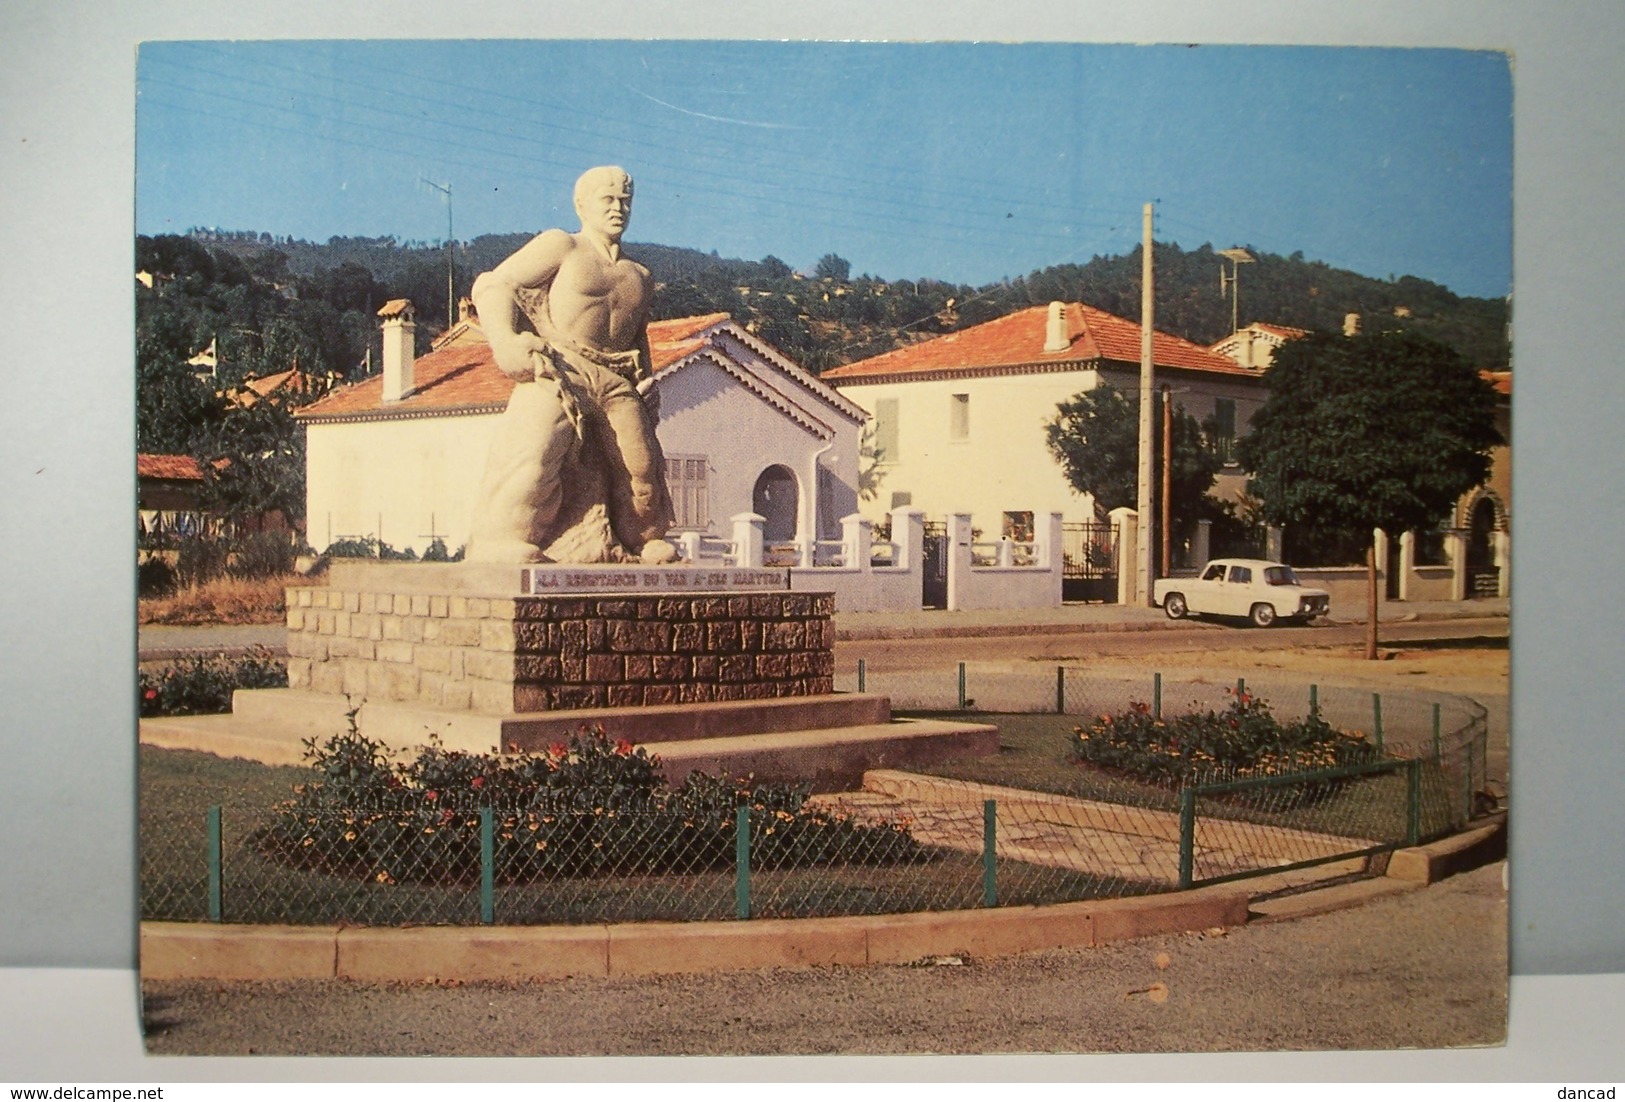
<svg viewBox="0 0 1625 1102"><path fill-rule="evenodd" d="M1425 530L1490 473L1495 388L1412 333L1287 341L1237 457L1276 525L1367 536L1365 657L1376 657L1376 536Z"/></svg>

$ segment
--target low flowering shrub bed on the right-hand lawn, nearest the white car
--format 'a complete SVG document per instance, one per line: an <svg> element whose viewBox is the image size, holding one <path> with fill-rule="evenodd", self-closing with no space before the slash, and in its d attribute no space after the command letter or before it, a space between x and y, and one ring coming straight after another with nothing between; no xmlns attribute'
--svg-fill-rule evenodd
<svg viewBox="0 0 1625 1102"><path fill-rule="evenodd" d="M1224 712L1162 718L1146 704L1131 704L1126 712L1074 728L1072 749L1086 762L1167 785L1277 777L1378 756L1362 735L1339 731L1318 714L1282 723L1263 699L1227 692L1232 701Z"/></svg>

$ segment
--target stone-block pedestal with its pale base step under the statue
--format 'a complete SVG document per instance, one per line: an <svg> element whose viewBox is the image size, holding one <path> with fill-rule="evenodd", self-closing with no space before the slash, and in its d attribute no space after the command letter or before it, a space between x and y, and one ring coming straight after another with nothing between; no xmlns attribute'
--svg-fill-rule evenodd
<svg viewBox="0 0 1625 1102"><path fill-rule="evenodd" d="M288 689L231 715L143 720L141 741L297 764L344 731L395 753L540 751L582 727L696 769L855 785L866 769L998 753L998 728L894 720L834 691L829 593L785 571L341 562L288 590Z"/></svg>

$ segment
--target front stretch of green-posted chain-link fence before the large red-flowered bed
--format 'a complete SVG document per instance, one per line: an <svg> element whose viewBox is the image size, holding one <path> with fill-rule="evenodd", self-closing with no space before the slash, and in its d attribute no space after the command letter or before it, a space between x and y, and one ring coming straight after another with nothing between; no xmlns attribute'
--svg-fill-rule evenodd
<svg viewBox="0 0 1625 1102"><path fill-rule="evenodd" d="M801 811L151 811L141 917L239 923L609 923L951 910L1155 891L1034 845L1006 800ZM915 818L918 814L918 818ZM964 819L964 822L960 822ZM993 822L994 834L988 834ZM1164 878L1167 881L1167 878Z"/></svg>

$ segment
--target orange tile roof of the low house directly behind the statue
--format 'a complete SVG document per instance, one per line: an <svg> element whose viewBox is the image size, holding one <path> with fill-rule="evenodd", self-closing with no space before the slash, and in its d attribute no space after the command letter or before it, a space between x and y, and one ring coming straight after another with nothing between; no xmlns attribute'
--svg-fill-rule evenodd
<svg viewBox="0 0 1625 1102"><path fill-rule="evenodd" d="M704 332L726 314L650 322L648 351L653 371L663 371L705 345ZM484 341L452 345L413 361L413 392L384 405L384 377L370 375L296 411L301 421L359 414L419 414L434 410L502 408L514 380L502 374Z"/></svg>

